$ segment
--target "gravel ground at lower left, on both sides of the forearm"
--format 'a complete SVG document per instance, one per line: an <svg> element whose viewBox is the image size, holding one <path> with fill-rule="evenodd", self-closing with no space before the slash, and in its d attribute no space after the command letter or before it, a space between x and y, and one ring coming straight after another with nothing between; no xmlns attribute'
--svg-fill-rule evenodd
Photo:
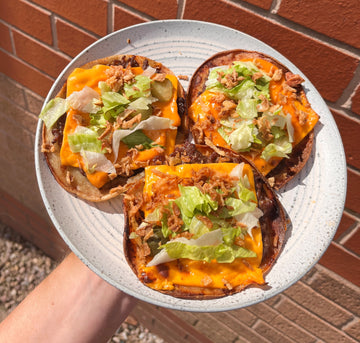
<svg viewBox="0 0 360 343"><path fill-rule="evenodd" d="M0 223L0 322L54 268L41 250ZM163 343L129 316L108 343Z"/></svg>

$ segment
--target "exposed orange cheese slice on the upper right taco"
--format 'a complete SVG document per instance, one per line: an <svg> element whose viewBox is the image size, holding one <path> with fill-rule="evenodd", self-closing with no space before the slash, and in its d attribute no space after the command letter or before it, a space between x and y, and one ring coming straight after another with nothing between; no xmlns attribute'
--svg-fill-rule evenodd
<svg viewBox="0 0 360 343"><path fill-rule="evenodd" d="M243 59L242 61L251 61L253 62L260 70L265 73L274 73L278 68L265 60L256 58L256 59ZM291 115L291 123L294 128L294 142L292 143L293 147L296 146L300 141L306 137L306 135L315 127L316 123L319 120L318 114L311 108L306 96L301 95L301 99L293 99L291 92L283 88L285 82L285 77L282 75L279 81L270 81L270 98L272 104L279 104L282 106L282 110L285 114L289 113ZM217 131L220 127L219 124L219 113L221 112L221 103L217 101L216 93L206 90L194 101L194 103L189 108L189 117L193 120L194 123L202 121L208 118L211 115L218 124L212 125L204 129L204 134L208 137L215 145L230 148L229 144L222 138L222 136ZM305 123L300 123L299 113L306 115ZM268 161L265 161L260 157L261 151L259 153L254 152L244 152L242 153L247 159L252 161L255 166L260 170L263 175L267 175L273 168L275 168L282 158L272 157Z"/></svg>

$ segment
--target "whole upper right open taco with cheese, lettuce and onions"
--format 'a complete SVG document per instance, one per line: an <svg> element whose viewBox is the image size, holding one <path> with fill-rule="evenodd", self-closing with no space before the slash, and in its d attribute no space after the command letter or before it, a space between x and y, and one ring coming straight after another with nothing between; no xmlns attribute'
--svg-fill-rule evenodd
<svg viewBox="0 0 360 343"><path fill-rule="evenodd" d="M241 154L281 188L310 157L319 120L303 82L263 53L217 53L190 81L188 116L195 142Z"/></svg>

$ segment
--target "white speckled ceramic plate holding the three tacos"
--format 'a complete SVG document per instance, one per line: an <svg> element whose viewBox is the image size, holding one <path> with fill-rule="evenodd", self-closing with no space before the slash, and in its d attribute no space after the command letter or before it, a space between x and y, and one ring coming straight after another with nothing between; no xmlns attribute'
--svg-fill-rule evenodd
<svg viewBox="0 0 360 343"><path fill-rule="evenodd" d="M60 74L46 102L60 90L73 68L97 58L122 54L147 56L176 75L188 75L208 57L229 49L257 50L273 56L305 79L308 99L320 115L315 146L302 172L279 193L291 219L279 259L266 276L269 289L249 288L214 300L184 300L141 284L123 254L121 199L89 203L65 192L51 175L36 136L36 173L47 211L71 250L115 287L141 300L171 309L212 312L249 306L268 299L298 281L319 260L339 224L345 201L346 164L341 138L325 102L295 65L266 44L215 24L170 20L135 25L110 34L80 53ZM181 81L187 89L188 81Z"/></svg>

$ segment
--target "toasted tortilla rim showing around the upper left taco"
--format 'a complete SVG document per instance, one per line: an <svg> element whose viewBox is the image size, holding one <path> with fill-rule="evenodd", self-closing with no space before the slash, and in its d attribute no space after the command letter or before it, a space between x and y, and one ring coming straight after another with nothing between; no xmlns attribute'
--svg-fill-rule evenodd
<svg viewBox="0 0 360 343"><path fill-rule="evenodd" d="M98 60L91 61L81 68L90 69L95 65L121 65L124 68L130 65L131 67L142 67L146 70L149 66L156 69L157 73L166 73L169 75L174 75L174 73L165 67L163 64L153 61L149 58L143 56L135 55L115 55L110 57L101 58ZM57 97L66 98L67 86L66 83L57 94ZM185 105L185 92L180 82L178 82L178 92L177 92L177 106L178 113L182 120L181 126L177 130L177 142L184 141L187 135L187 128L184 124L186 105ZM42 150L44 152L47 164L54 175L56 181L63 187L66 191L91 202L100 202L109 200L122 194L129 184L135 182L138 178L136 175L141 170L135 170L133 175L118 175L114 179L107 182L101 188L95 187L89 182L85 173L80 168L75 168L72 166L63 166L61 165L60 160L60 149L62 145L62 132L64 129L66 120L66 114L64 114L51 128L47 129L43 125L43 144ZM161 161L160 161L161 162ZM148 164L159 163L159 159L154 159L148 161Z"/></svg>

